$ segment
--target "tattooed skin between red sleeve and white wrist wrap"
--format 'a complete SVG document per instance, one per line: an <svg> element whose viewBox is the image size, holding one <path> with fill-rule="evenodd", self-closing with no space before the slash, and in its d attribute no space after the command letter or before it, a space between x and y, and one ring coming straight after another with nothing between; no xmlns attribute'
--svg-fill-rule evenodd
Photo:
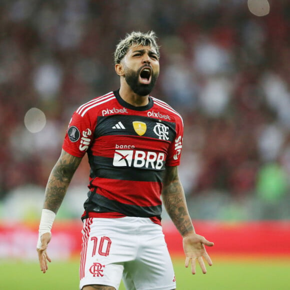
<svg viewBox="0 0 290 290"><path fill-rule="evenodd" d="M72 156L64 150L61 151L47 181L43 208L56 213L80 161L81 158Z"/></svg>

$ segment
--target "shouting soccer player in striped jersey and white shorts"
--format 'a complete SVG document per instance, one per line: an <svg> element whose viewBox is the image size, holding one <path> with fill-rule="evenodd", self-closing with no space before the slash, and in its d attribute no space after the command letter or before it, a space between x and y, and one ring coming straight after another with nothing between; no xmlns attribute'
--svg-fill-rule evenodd
<svg viewBox="0 0 290 290"><path fill-rule="evenodd" d="M73 113L45 189L37 252L47 270L47 244L55 214L85 153L89 191L82 214L80 284L82 290L175 289L172 262L161 228L164 206L183 237L185 267L195 273L205 245L194 231L179 181L181 116L149 96L159 74L159 47L153 31L126 34L114 52L118 90L96 97Z"/></svg>

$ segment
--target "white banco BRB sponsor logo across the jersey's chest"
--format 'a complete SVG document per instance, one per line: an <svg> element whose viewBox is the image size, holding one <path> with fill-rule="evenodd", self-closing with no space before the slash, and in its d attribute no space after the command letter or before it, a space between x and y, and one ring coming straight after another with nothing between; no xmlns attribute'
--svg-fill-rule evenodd
<svg viewBox="0 0 290 290"><path fill-rule="evenodd" d="M123 150L119 148L134 148L134 145L117 145L114 152L113 165L116 167L136 167L161 169L165 160L163 152Z"/></svg>

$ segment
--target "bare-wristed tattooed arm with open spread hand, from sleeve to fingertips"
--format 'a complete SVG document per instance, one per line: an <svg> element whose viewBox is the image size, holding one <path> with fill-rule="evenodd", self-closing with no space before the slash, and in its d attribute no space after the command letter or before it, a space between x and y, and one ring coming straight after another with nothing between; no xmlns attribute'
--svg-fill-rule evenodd
<svg viewBox="0 0 290 290"><path fill-rule="evenodd" d="M171 220L183 237L183 249L185 253L185 267L191 261L191 271L195 274L195 261L197 259L202 272L206 273L203 258L211 266L212 261L208 256L204 245L212 246L213 242L196 234L188 213L183 187L178 177L177 166L167 166L163 178L162 200Z"/></svg>

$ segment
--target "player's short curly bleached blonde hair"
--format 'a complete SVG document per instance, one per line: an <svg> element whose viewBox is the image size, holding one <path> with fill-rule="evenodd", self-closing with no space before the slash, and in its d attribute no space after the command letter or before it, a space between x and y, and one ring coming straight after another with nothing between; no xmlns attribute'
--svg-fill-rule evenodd
<svg viewBox="0 0 290 290"><path fill-rule="evenodd" d="M148 31L147 33L143 33L140 31L132 31L131 33L127 33L125 38L121 39L119 43L116 45L116 49L114 52L114 62L120 63L124 55L127 53L128 49L132 46L151 46L157 53L158 58L160 57L159 46L156 42L157 36L154 31Z"/></svg>

